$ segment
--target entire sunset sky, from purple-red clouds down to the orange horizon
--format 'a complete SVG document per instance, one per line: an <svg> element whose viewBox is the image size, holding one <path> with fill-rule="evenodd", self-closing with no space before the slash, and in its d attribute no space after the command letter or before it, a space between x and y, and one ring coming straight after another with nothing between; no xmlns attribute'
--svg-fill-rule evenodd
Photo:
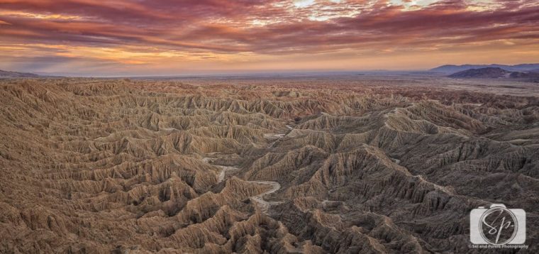
<svg viewBox="0 0 539 254"><path fill-rule="evenodd" d="M0 0L0 69L76 76L539 62L537 0Z"/></svg>

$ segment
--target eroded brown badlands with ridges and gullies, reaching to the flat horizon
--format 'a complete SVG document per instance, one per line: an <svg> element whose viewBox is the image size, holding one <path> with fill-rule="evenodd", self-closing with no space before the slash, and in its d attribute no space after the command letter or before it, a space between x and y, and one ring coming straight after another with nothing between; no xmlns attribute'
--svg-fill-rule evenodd
<svg viewBox="0 0 539 254"><path fill-rule="evenodd" d="M538 91L6 79L0 253L470 253L491 203L527 211L537 252Z"/></svg>

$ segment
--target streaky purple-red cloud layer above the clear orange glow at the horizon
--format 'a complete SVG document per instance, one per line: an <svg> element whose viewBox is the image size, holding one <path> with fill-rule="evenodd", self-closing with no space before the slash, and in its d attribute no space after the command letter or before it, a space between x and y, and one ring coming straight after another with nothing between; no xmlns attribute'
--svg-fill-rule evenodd
<svg viewBox="0 0 539 254"><path fill-rule="evenodd" d="M116 49L89 58L125 65L151 58L130 54L126 60L118 53L125 48L152 48L155 59L181 52L224 62L238 54L375 55L501 40L516 49L539 42L538 24L536 1L0 0L0 43L65 45L76 57ZM16 51L3 53L16 57Z"/></svg>

